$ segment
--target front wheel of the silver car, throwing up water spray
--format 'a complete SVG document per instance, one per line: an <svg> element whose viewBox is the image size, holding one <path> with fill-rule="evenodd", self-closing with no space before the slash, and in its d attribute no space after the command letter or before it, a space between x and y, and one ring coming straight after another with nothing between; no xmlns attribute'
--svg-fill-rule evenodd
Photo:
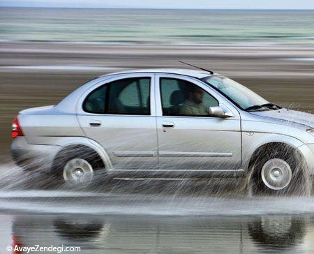
<svg viewBox="0 0 314 254"><path fill-rule="evenodd" d="M311 194L311 176L301 154L285 145L260 151L250 170L253 195Z"/></svg>

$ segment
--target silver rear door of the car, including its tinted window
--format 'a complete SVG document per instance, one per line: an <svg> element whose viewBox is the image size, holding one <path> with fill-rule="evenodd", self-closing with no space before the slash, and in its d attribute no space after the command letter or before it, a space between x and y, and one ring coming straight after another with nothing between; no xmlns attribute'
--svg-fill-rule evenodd
<svg viewBox="0 0 314 254"><path fill-rule="evenodd" d="M113 170L158 167L153 77L116 77L85 95L78 121L85 135L107 151Z"/></svg>

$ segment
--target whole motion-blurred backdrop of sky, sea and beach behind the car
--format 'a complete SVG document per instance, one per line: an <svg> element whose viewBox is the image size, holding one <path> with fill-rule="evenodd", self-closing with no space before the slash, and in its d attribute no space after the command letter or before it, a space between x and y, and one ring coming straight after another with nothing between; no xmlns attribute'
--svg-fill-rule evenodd
<svg viewBox="0 0 314 254"><path fill-rule="evenodd" d="M251 2L1 0L1 155L20 110L54 105L105 73L188 68L179 60L311 112L314 3Z"/></svg>

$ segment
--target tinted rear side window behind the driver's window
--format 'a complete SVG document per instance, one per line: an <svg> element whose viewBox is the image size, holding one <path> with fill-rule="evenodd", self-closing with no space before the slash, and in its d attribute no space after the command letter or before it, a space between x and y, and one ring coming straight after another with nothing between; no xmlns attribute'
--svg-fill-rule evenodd
<svg viewBox="0 0 314 254"><path fill-rule="evenodd" d="M150 114L150 77L116 80L92 91L83 110L95 114Z"/></svg>

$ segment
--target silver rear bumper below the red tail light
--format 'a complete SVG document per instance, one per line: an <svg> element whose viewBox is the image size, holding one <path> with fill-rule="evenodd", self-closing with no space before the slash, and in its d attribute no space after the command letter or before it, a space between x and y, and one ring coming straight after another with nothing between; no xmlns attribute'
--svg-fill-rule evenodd
<svg viewBox="0 0 314 254"><path fill-rule="evenodd" d="M27 170L48 170L61 147L56 145L27 144L25 137L16 137L11 144L15 164Z"/></svg>

